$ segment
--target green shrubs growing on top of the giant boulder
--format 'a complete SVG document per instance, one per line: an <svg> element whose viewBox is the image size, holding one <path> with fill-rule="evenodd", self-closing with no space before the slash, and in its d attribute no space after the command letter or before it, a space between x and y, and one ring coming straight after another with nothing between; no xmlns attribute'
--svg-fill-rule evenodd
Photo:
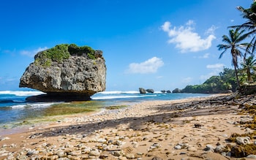
<svg viewBox="0 0 256 160"><path fill-rule="evenodd" d="M78 47L75 44L56 45L55 47L38 53L35 57L35 64L42 66L50 66L52 61L61 63L61 61L69 58L70 56L83 56L83 54L88 56L88 58L90 59L96 59L95 50L93 50L91 47Z"/></svg>

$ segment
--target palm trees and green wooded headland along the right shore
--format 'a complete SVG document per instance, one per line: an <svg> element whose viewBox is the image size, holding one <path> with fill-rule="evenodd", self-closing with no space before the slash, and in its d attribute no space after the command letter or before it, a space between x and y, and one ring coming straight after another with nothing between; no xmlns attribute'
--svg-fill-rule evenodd
<svg viewBox="0 0 256 160"><path fill-rule="evenodd" d="M247 88L253 91L246 93L256 92L256 87L247 87L256 85L256 2L254 1L248 9L244 7L237 9L246 22L229 26L228 34L222 36L223 44L217 45L218 49L222 50L219 58L222 58L224 53L230 52L234 70L224 68L219 76L212 76L201 85L187 85L181 92L215 94L239 91L243 94Z"/></svg>

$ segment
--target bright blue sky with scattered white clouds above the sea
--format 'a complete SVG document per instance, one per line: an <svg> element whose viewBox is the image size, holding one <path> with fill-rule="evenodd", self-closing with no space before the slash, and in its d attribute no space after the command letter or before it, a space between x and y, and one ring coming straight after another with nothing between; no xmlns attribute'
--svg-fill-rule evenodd
<svg viewBox="0 0 256 160"><path fill-rule="evenodd" d="M233 69L219 59L228 26L252 0L1 0L0 91L19 88L34 55L59 44L102 50L106 91L202 84Z"/></svg>

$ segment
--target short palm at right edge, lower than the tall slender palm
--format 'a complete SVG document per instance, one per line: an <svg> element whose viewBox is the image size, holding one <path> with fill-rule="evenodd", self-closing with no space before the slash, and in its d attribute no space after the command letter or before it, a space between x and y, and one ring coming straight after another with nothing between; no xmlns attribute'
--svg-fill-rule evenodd
<svg viewBox="0 0 256 160"><path fill-rule="evenodd" d="M256 71L256 59L254 59L254 56L246 58L241 66L243 67L241 71L246 72L248 82L252 82L252 72Z"/></svg>

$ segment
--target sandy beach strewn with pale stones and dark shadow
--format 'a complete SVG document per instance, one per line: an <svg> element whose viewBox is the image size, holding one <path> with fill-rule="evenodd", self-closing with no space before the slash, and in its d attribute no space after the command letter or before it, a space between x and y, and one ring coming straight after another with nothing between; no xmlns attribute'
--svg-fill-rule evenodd
<svg viewBox="0 0 256 160"><path fill-rule="evenodd" d="M227 141L231 134L254 132L241 123L253 118L240 112L245 104L255 105L255 95L146 101L67 116L1 134L0 159L238 159L225 146L235 145Z"/></svg>

